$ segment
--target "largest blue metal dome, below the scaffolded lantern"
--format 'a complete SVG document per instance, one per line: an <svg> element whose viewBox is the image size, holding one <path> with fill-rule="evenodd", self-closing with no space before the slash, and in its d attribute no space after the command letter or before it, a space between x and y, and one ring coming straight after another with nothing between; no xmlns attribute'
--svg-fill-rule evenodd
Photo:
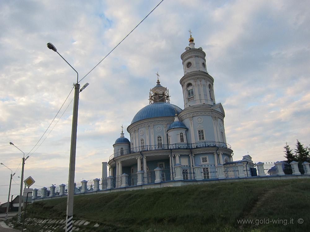
<svg viewBox="0 0 310 232"><path fill-rule="evenodd" d="M166 102L155 102L139 110L132 119L131 124L146 118L173 117L175 116L175 109L177 114L182 111L182 109L176 105Z"/></svg>

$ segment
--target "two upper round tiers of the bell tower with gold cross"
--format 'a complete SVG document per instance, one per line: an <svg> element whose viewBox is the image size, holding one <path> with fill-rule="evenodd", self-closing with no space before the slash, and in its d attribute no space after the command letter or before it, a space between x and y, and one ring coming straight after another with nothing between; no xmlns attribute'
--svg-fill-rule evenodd
<svg viewBox="0 0 310 232"><path fill-rule="evenodd" d="M184 109L193 105L214 105L214 79L206 68L206 53L202 48L195 48L192 32L189 30L188 47L181 54L184 76L180 79L183 89Z"/></svg>

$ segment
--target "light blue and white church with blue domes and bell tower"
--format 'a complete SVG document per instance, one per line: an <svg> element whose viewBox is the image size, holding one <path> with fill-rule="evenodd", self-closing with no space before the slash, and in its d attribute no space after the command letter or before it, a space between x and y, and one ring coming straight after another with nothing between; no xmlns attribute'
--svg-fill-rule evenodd
<svg viewBox="0 0 310 232"><path fill-rule="evenodd" d="M211 167L233 162L233 151L226 142L224 108L215 101L214 79L207 71L205 57L190 35L189 45L181 54L184 110L170 103L168 89L157 78L149 92L149 105L139 110L127 127L130 139L122 131L113 144L114 153L103 162L116 182L117 177L127 174L128 185L134 185L136 173L143 171L151 183L156 168L166 170L163 180L173 179L177 164L185 167L182 172L187 179L195 165L209 167L204 175L210 175ZM103 173L103 178L106 176Z"/></svg>

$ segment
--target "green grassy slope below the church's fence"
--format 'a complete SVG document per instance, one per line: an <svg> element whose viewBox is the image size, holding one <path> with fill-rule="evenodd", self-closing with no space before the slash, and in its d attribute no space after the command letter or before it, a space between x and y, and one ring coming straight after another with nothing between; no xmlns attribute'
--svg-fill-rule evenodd
<svg viewBox="0 0 310 232"><path fill-rule="evenodd" d="M27 207L27 217L65 219L66 203L66 198L37 201ZM206 183L74 197L74 219L93 223L80 231L309 231L309 209L310 179ZM238 223L239 219L253 223ZM93 227L94 223L100 226Z"/></svg>

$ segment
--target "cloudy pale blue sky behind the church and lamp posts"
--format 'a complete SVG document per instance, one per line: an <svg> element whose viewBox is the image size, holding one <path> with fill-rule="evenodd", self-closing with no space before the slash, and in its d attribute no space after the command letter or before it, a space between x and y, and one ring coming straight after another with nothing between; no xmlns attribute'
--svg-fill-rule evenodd
<svg viewBox="0 0 310 232"><path fill-rule="evenodd" d="M29 153L76 82L47 42L81 79L159 2L0 2L0 161L17 170L14 197L23 154L9 142ZM80 93L75 180L101 177L101 162L113 153L121 126L149 104L157 71L170 103L184 109L180 55L189 29L215 79L234 160L249 153L254 162L281 161L286 142L309 146L309 25L308 1L164 0L80 83L89 86ZM50 129L57 125L29 154L24 176L33 177L33 188L68 183L72 98L73 92ZM10 174L0 166L2 203Z"/></svg>

